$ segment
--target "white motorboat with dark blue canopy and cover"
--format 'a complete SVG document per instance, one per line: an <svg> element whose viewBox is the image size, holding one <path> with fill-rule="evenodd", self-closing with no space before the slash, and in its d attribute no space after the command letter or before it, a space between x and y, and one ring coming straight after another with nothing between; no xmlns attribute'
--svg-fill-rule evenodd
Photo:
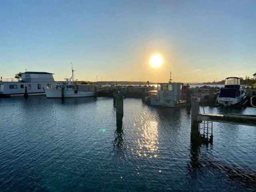
<svg viewBox="0 0 256 192"><path fill-rule="evenodd" d="M240 88L240 78L228 77L225 80L224 88L220 88L220 95L217 98L218 103L228 107L242 104L245 98L244 90Z"/></svg>

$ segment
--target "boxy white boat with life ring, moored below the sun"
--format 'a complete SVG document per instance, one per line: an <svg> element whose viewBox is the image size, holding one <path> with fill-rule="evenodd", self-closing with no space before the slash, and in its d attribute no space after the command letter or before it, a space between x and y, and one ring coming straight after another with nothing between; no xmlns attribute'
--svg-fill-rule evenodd
<svg viewBox="0 0 256 192"><path fill-rule="evenodd" d="M183 83L158 83L157 93L150 94L150 104L163 107L186 105L186 89Z"/></svg>

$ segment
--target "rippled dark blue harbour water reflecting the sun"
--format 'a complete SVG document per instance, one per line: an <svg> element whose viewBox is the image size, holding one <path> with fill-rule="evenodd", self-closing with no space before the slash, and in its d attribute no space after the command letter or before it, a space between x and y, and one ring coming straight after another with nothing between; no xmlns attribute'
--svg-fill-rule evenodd
<svg viewBox="0 0 256 192"><path fill-rule="evenodd" d="M30 96L0 116L0 191L256 190L256 128L214 122L213 145L193 146L188 107L126 99L116 122L112 98Z"/></svg>

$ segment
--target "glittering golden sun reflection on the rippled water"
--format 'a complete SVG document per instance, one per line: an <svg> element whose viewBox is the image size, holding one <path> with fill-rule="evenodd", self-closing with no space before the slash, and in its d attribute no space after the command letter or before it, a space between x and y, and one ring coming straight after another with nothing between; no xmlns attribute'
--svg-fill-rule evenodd
<svg viewBox="0 0 256 192"><path fill-rule="evenodd" d="M141 137L136 141L138 144L137 154L140 157L157 157L158 152L158 122L148 121L141 128Z"/></svg>

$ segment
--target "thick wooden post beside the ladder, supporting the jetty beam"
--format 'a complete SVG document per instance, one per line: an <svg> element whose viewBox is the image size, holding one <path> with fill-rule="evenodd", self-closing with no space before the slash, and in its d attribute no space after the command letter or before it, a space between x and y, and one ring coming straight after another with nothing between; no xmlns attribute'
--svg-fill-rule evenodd
<svg viewBox="0 0 256 192"><path fill-rule="evenodd" d="M197 120L197 115L199 114L199 102L197 98L191 98L191 140L198 140L200 138L199 133L199 122Z"/></svg>

